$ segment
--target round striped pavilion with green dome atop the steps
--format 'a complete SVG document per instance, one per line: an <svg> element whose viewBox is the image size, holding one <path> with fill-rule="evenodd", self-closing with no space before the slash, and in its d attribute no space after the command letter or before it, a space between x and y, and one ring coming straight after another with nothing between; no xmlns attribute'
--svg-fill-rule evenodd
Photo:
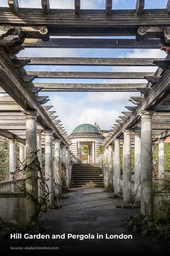
<svg viewBox="0 0 170 256"><path fill-rule="evenodd" d="M95 163L98 148L102 145L104 138L94 125L79 125L70 134L71 152L79 159L79 162L82 162L82 145L88 145L87 163Z"/></svg>

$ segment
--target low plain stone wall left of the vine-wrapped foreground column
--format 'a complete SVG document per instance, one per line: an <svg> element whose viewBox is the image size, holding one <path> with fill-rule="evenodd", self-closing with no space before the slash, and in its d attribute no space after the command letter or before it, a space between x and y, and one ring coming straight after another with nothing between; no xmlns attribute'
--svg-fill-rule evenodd
<svg viewBox="0 0 170 256"><path fill-rule="evenodd" d="M23 192L0 192L0 218L12 223L26 221L26 199Z"/></svg>

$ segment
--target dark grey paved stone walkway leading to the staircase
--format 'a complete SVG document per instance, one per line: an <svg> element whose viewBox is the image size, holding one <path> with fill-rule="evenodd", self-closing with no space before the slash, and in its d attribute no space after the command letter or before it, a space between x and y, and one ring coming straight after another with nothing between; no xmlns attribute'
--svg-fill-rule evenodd
<svg viewBox="0 0 170 256"><path fill-rule="evenodd" d="M160 253L165 252L170 247L170 243L153 242L142 239L133 233L121 228L123 221L130 215L135 215L133 209L122 209L120 207L122 199L112 198L111 193L105 193L103 188L77 188L71 189L66 199L62 202L61 209L49 210L41 215L41 220L45 221L46 231L50 239L24 239L22 243L14 241L10 246L14 246L18 252L23 250L44 252L45 249L55 253L66 251L74 253L96 252L98 254L118 252L126 254L136 253ZM65 239L52 239L52 235L64 234ZM67 234L72 235L94 235L95 239L80 240L67 238ZM103 239L97 239L97 233ZM106 239L106 234L132 234L132 239Z"/></svg>

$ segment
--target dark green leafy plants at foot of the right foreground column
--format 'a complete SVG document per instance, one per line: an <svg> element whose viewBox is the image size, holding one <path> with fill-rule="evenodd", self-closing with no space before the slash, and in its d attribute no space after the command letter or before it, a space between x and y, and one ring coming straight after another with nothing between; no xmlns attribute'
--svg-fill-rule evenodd
<svg viewBox="0 0 170 256"><path fill-rule="evenodd" d="M122 224L122 227L141 237L155 238L167 241L170 239L170 221L167 218L160 218L158 221L152 221L143 215L130 216Z"/></svg>

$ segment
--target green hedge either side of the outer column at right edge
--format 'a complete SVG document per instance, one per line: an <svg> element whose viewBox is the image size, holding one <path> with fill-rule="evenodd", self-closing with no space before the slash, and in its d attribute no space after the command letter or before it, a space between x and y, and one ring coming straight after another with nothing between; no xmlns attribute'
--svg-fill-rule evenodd
<svg viewBox="0 0 170 256"><path fill-rule="evenodd" d="M159 143L154 143L154 160L158 168ZM165 143L165 170L170 171L170 142Z"/></svg>

